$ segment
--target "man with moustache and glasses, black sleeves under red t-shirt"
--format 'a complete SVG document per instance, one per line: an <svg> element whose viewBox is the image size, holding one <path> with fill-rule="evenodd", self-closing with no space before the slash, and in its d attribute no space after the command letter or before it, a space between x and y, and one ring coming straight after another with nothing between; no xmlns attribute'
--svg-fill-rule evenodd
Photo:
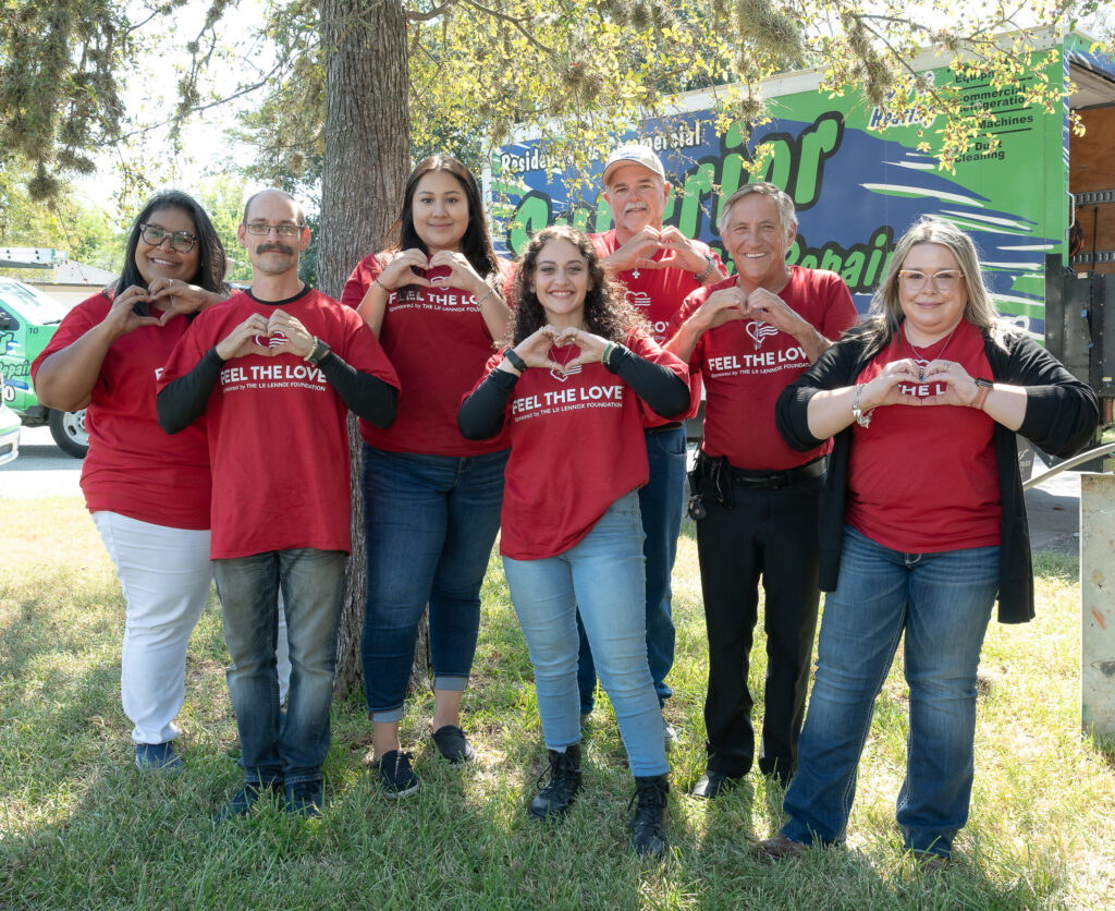
<svg viewBox="0 0 1115 911"><path fill-rule="evenodd" d="M387 426L399 384L356 311L299 278L310 230L289 194L252 196L236 237L252 286L200 314L171 352L158 420L168 433L201 421L209 435L212 557L245 778L222 816L245 814L270 793L284 796L288 812L316 816L351 550L346 419L351 409ZM284 723L280 591L291 660Z"/></svg>

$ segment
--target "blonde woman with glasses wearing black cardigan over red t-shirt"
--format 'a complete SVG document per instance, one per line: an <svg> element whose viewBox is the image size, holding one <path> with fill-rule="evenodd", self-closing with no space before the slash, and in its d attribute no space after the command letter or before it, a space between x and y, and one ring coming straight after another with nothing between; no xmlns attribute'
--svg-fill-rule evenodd
<svg viewBox="0 0 1115 911"><path fill-rule="evenodd" d="M1087 385L999 320L971 238L925 219L898 242L869 318L778 399L786 441L833 437L821 499L825 597L816 682L768 860L843 841L872 709L904 639L910 688L903 844L947 863L968 819L976 671L991 606L1034 616L1015 434L1085 445Z"/></svg>

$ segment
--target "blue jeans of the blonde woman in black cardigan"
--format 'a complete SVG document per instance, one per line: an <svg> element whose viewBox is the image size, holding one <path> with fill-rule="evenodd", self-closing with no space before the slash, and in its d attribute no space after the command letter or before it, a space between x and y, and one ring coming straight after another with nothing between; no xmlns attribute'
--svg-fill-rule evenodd
<svg viewBox="0 0 1115 911"><path fill-rule="evenodd" d="M845 526L785 835L805 844L844 837L872 708L904 632L910 735L898 822L906 850L951 853L968 821L976 670L998 575L998 546L902 554Z"/></svg>

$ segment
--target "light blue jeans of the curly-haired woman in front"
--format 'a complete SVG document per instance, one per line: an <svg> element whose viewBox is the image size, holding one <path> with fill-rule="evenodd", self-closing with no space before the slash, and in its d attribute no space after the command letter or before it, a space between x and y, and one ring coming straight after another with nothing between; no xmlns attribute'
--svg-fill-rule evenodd
<svg viewBox="0 0 1115 911"><path fill-rule="evenodd" d="M580 606L600 682L615 710L631 773L668 771L662 715L647 664L644 567L639 499L620 497L574 547L536 560L503 558L526 636L549 749L581 739L576 685Z"/></svg>

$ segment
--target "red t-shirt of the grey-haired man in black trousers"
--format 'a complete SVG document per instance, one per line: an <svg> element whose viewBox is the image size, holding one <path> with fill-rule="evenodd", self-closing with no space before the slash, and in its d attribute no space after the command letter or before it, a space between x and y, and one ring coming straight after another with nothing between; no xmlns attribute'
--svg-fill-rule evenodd
<svg viewBox="0 0 1115 911"><path fill-rule="evenodd" d="M670 335L712 291L735 282L733 276L689 295ZM831 341L859 322L852 295L835 272L791 266L778 297ZM699 371L705 381L704 451L754 471L784 471L826 453L830 441L809 452L791 449L774 422L778 395L808 368L809 358L794 336L769 323L736 319L706 332L689 358L690 373Z"/></svg>

